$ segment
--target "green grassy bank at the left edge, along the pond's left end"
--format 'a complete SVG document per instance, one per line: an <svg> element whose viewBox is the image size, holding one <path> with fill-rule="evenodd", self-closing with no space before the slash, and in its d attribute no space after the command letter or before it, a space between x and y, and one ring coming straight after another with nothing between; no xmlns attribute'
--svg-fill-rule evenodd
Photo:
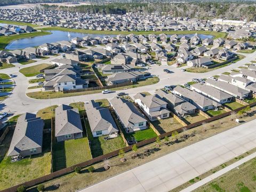
<svg viewBox="0 0 256 192"><path fill-rule="evenodd" d="M36 36L43 36L43 35L49 35L50 32L47 31L37 31L33 33L25 33L20 35L11 35L11 36L2 36L0 37L0 50L5 49L5 47L11 43L14 40L26 38L26 37L36 37Z"/></svg>

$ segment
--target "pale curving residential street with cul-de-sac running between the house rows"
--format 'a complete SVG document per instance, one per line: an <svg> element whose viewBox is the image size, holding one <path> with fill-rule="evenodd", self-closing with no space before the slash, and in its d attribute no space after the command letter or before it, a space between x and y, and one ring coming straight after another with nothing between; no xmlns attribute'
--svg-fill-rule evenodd
<svg viewBox="0 0 256 192"><path fill-rule="evenodd" d="M242 66L245 63L248 63L251 60L256 58L256 52L254 52L252 54L243 54L243 55L245 55L245 58L236 63L233 63L227 67L222 67L222 68L219 68L216 70L209 71L208 73L201 73L201 74L182 72L182 71L180 71L180 68L175 68L173 66L153 66L153 67L149 68L149 72L151 74L159 77L160 81L157 84L137 87L137 88L133 88L133 89L129 89L129 90L122 90L122 91L125 93L128 93L130 95L134 95L136 93L144 92L144 91L153 92L156 89L162 88L164 85L178 85L178 84L183 84L183 83L189 82L194 77L205 78L205 77L210 77L213 75L221 74L224 71L228 71L233 68ZM75 96L75 97L42 99L42 100L32 99L32 98L27 97L26 90L28 87L28 79L25 76L23 76L21 73L19 73L19 69L24 68L24 67L38 65L39 63L50 63L51 60L53 60L55 58L60 58L60 57L61 56L52 57L50 59L37 61L34 63L30 63L28 65L18 65L13 68L7 68L7 69L0 70L0 73L17 75L17 77L13 78L16 83L16 86L15 86L12 94L10 95L10 98L4 100L1 103L0 111L11 111L11 113L13 113L13 114L34 112L39 109L49 107L51 105L60 105L62 103L89 101L91 99L103 99L103 98L109 99L109 98L115 97L118 92L121 92L121 91L117 91L117 92L110 93L110 94L96 93L96 94L90 94L90 95L80 95L80 96ZM173 73L166 74L163 71L163 69L170 69L171 71L173 71Z"/></svg>

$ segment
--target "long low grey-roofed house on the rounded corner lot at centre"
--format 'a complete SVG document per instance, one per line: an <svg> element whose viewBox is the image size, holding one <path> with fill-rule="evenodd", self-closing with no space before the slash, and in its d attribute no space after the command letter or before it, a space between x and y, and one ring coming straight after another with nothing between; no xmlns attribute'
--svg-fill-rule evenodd
<svg viewBox="0 0 256 192"><path fill-rule="evenodd" d="M108 75L105 81L107 85L116 85L121 83L137 82L143 77L144 75L140 71L129 71Z"/></svg>

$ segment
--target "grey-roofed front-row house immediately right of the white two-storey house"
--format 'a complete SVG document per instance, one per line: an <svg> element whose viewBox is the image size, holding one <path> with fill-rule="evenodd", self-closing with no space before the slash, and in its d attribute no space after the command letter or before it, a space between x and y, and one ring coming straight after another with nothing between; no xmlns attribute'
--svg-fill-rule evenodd
<svg viewBox="0 0 256 192"><path fill-rule="evenodd" d="M174 111L174 113L178 116L183 117L186 115L194 114L196 111L196 106L183 100L179 95L166 93L163 90L157 90L156 94L163 98L168 103L167 107Z"/></svg>

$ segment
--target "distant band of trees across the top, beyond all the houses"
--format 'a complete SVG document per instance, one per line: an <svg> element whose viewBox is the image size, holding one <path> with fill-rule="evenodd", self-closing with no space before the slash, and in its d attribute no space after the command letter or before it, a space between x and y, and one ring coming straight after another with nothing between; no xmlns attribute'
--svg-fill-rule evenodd
<svg viewBox="0 0 256 192"><path fill-rule="evenodd" d="M108 1L115 3L107 3ZM18 3L90 2L91 5L55 6L43 5L44 9L66 10L81 13L125 14L126 12L170 14L173 17L226 18L256 21L255 1L242 0L2 0L1 5ZM189 3L188 3L189 2Z"/></svg>

